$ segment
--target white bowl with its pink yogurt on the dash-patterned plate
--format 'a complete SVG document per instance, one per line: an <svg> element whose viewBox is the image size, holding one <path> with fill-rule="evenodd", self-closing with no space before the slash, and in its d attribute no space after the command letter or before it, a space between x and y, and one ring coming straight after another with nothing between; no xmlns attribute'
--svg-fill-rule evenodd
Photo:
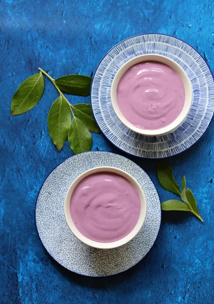
<svg viewBox="0 0 214 304"><path fill-rule="evenodd" d="M192 85L174 60L147 54L127 61L111 86L111 102L120 121L143 135L174 131L192 104Z"/></svg>

